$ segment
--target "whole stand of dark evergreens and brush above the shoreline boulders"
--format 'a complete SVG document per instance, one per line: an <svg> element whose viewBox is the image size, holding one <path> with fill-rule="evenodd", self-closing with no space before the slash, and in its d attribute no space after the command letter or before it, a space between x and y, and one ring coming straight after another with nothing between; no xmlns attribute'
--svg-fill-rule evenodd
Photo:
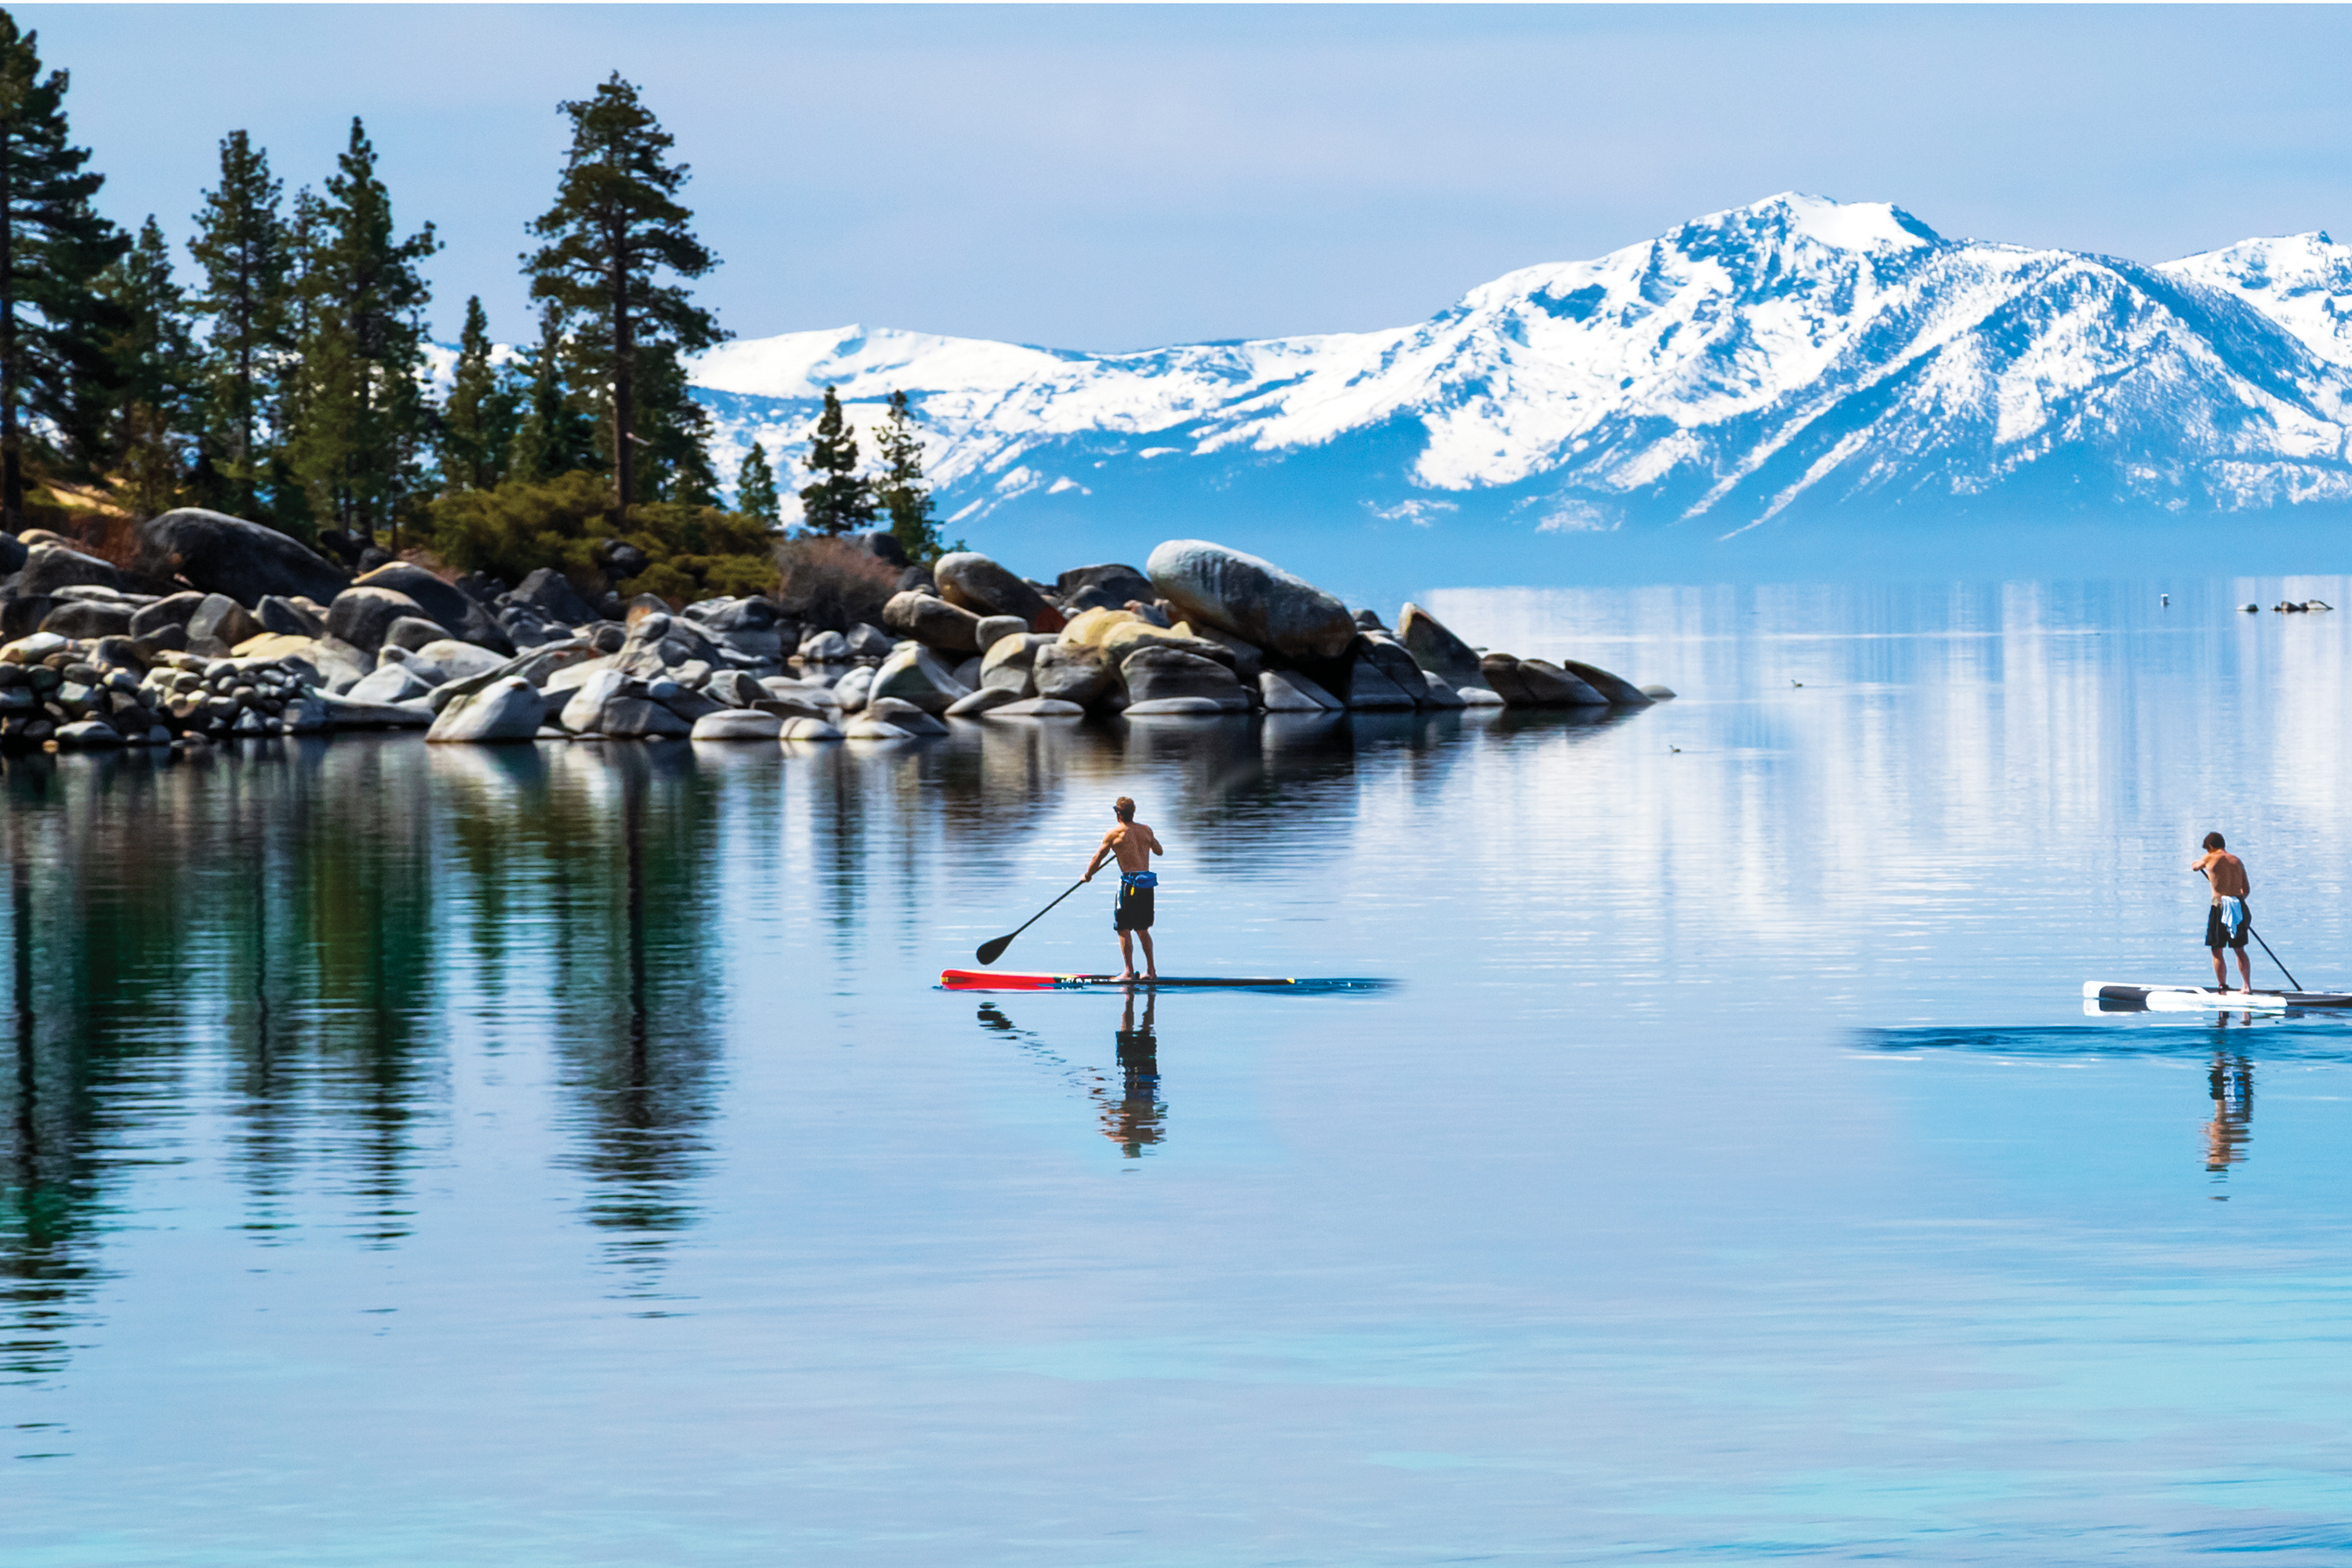
<svg viewBox="0 0 2352 1568"><path fill-rule="evenodd" d="M687 360L729 336L691 294L720 259L675 139L619 73L555 106L569 141L548 207L517 214L536 320L506 350L468 299L454 362L428 327L442 242L395 216L358 118L292 193L226 129L176 259L153 214L122 230L99 212L68 87L0 9L0 531L136 567L143 524L202 508L358 574L553 569L670 604L771 583L779 465L753 447L722 505L687 388ZM828 390L797 531L887 527L929 562L943 543L903 395L875 444L858 451Z"/></svg>

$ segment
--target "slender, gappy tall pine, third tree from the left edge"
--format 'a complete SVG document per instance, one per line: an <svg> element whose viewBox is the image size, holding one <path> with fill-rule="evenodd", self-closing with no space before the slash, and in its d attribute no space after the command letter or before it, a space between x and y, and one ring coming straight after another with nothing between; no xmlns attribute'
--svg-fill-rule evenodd
<svg viewBox="0 0 2352 1568"><path fill-rule="evenodd" d="M245 132L221 139L221 183L205 193L188 254L205 268L191 308L205 317L205 463L221 480L219 503L240 517L261 512L268 468L263 421L287 331L285 186Z"/></svg>

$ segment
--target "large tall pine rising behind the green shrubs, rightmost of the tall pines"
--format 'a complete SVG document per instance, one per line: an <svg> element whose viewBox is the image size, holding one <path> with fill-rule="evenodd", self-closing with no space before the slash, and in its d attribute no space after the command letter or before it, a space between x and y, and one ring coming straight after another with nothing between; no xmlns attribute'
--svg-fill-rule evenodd
<svg viewBox="0 0 2352 1568"><path fill-rule="evenodd" d="M694 237L694 214L677 202L687 165L668 162L675 139L619 71L593 99L557 108L572 120L572 150L555 205L529 226L543 244L522 268L532 299L562 315L572 383L597 390L614 503L628 508L647 498L637 470L654 425L668 423L673 437L699 440L699 409L684 395L684 376L666 374L661 357L675 364L677 355L727 336L684 289L656 277L701 277L717 256ZM680 489L680 473L691 484L687 454L675 454L668 468L668 491ZM708 470L708 458L701 468Z"/></svg>

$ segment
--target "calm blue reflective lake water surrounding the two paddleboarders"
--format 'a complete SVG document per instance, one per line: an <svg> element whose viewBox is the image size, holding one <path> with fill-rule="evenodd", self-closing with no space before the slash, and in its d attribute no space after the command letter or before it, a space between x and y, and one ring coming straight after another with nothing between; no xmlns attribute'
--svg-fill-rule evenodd
<svg viewBox="0 0 2352 1568"><path fill-rule="evenodd" d="M1597 724L7 762L0 1561L2343 1559L2352 1030L2079 994L2209 973L2209 827L2352 983L2281 595L1425 599L1684 693ZM1397 985L936 990L1120 792L1171 973Z"/></svg>

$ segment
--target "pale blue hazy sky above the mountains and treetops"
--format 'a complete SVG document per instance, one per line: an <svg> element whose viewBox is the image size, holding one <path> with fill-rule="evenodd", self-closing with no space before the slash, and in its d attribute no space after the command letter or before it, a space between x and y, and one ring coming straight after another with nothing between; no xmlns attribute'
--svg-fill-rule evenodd
<svg viewBox="0 0 2352 1568"><path fill-rule="evenodd" d="M16 7L106 209L186 233L249 129L367 120L433 263L527 329L555 101L677 134L727 327L1141 348L1418 320L1797 188L2143 261L2352 230L2338 7Z"/></svg>

